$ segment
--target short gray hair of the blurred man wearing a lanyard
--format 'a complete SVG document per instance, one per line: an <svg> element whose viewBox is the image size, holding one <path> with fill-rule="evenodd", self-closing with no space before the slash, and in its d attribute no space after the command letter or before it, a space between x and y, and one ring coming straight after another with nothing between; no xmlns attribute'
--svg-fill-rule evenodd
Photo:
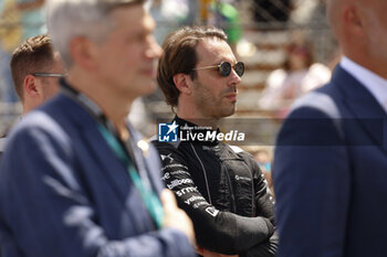
<svg viewBox="0 0 387 257"><path fill-rule="evenodd" d="M73 64L69 44L76 36L103 42L114 29L111 11L145 0L49 0L46 23L54 49L69 68Z"/></svg>

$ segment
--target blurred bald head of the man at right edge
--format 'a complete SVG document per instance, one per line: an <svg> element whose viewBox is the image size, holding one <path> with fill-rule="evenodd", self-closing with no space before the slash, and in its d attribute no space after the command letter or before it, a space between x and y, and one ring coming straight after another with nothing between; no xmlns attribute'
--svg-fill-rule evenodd
<svg viewBox="0 0 387 257"><path fill-rule="evenodd" d="M328 0L327 15L343 53L387 78L387 1Z"/></svg>

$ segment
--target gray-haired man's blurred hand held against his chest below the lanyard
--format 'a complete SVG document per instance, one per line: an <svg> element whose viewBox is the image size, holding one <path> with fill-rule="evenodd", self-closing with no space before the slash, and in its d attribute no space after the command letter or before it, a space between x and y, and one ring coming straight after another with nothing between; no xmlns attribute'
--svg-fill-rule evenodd
<svg viewBox="0 0 387 257"><path fill-rule="evenodd" d="M188 215L177 206L174 193L170 190L163 190L160 200L164 207L164 227L172 227L186 234L188 239L195 245L195 232L191 219Z"/></svg>

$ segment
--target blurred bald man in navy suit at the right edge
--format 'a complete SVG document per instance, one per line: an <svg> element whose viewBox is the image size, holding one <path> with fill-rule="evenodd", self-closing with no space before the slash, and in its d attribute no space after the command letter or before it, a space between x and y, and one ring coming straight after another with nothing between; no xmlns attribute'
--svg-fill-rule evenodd
<svg viewBox="0 0 387 257"><path fill-rule="evenodd" d="M343 57L276 142L280 257L387 256L387 1L328 0Z"/></svg>

